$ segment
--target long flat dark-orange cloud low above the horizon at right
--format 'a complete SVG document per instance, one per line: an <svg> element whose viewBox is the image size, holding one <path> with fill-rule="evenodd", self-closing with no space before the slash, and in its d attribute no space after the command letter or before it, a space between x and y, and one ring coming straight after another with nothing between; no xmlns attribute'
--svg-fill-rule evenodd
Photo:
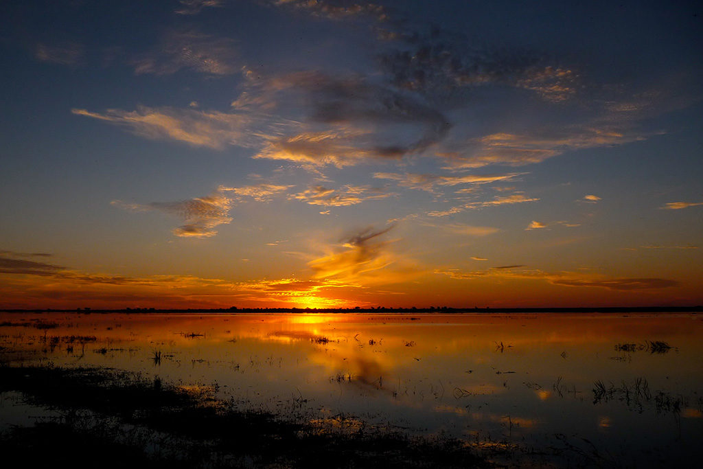
<svg viewBox="0 0 703 469"><path fill-rule="evenodd" d="M520 278L548 281L553 285L569 287L605 288L614 291L639 291L672 288L681 285L680 282L668 278L602 278L589 276L579 272L548 273L538 269L519 269L523 265L498 266L479 271L459 271L458 269L437 269L435 274L443 274L456 280L472 278L499 277Z"/></svg>

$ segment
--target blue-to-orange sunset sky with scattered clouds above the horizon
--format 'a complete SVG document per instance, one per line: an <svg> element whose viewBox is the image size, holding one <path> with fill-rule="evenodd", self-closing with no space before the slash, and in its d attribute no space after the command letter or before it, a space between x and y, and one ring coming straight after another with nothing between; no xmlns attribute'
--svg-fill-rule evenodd
<svg viewBox="0 0 703 469"><path fill-rule="evenodd" d="M697 2L0 18L2 308L703 304Z"/></svg>

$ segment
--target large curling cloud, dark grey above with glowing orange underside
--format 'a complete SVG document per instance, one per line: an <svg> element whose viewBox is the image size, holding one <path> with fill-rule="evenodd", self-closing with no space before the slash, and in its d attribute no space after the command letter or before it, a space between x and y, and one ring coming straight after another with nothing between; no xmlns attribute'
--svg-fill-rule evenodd
<svg viewBox="0 0 703 469"><path fill-rule="evenodd" d="M254 158L309 165L399 160L441 141L451 124L415 96L363 77L298 72L251 79L233 108L278 112L300 122L296 134L271 137ZM288 114L286 114L288 113Z"/></svg>

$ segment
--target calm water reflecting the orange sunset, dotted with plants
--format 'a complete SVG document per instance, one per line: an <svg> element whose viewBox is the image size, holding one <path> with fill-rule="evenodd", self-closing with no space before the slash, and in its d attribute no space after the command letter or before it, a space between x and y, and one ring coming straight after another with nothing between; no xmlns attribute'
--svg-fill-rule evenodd
<svg viewBox="0 0 703 469"><path fill-rule="evenodd" d="M6 359L125 368L273 411L297 403L322 419L515 445L542 463L557 452L557 465L565 454L666 465L695 454L703 437L696 314L0 314L0 322L10 323L0 327ZM37 322L56 327L20 325ZM0 418L11 412L0 406Z"/></svg>

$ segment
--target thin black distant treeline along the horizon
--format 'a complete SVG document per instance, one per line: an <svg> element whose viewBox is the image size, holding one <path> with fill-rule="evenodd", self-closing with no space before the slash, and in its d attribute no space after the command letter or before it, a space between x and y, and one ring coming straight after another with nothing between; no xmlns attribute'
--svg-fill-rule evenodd
<svg viewBox="0 0 703 469"><path fill-rule="evenodd" d="M214 308L214 309L156 309L156 308L126 308L126 309L0 309L3 312L33 312L33 313L692 313L703 312L703 306L643 306L643 307L583 307L583 308L387 308L387 307L354 307L354 308Z"/></svg>

